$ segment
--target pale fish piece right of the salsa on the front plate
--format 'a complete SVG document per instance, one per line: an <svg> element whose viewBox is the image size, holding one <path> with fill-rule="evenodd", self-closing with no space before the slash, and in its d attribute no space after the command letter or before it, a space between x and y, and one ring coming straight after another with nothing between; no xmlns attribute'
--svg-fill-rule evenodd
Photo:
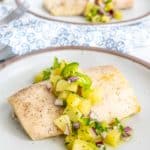
<svg viewBox="0 0 150 150"><path fill-rule="evenodd" d="M113 66L101 66L86 72L94 87L102 89L102 102L92 108L91 116L99 121L111 122L140 111L140 105L128 81Z"/></svg>

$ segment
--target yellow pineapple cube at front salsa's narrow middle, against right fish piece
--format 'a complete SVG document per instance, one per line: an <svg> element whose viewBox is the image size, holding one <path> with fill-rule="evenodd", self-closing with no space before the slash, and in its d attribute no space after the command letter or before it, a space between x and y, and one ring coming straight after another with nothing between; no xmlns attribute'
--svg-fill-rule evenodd
<svg viewBox="0 0 150 150"><path fill-rule="evenodd" d="M90 113L91 107L92 107L91 102L89 100L85 100L85 99L82 99L81 102L78 105L78 109L85 116L87 116Z"/></svg>

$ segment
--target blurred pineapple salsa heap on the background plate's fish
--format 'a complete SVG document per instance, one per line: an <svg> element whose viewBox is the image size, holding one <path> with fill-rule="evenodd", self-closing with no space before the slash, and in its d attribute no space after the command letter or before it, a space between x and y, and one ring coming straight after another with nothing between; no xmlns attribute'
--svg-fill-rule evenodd
<svg viewBox="0 0 150 150"><path fill-rule="evenodd" d="M93 23L107 23L112 19L122 19L122 13L115 8L112 0L95 0L94 3L88 2L84 16L87 21Z"/></svg>

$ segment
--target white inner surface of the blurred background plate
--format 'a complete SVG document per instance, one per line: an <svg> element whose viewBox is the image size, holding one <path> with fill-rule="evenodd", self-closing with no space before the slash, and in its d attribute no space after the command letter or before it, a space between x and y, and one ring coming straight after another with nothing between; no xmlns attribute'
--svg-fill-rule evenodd
<svg viewBox="0 0 150 150"><path fill-rule="evenodd" d="M16 0L18 4L21 0ZM71 22L71 23L86 23L87 21L83 17L76 16L76 17L56 17L50 15L44 8L43 8L43 0L26 0L30 4L30 12L35 15L46 17L48 19L54 19L59 21ZM129 21L134 20L137 18L141 18L147 15L150 12L150 0L135 0L134 7L132 9L123 10L123 20L122 21Z"/></svg>

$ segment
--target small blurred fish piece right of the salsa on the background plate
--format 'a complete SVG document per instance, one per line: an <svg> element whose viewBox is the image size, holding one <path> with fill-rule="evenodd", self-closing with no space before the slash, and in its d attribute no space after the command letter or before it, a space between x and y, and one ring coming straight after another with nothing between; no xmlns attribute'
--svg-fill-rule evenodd
<svg viewBox="0 0 150 150"><path fill-rule="evenodd" d="M128 9L133 7L134 0L113 0L118 9Z"/></svg>

